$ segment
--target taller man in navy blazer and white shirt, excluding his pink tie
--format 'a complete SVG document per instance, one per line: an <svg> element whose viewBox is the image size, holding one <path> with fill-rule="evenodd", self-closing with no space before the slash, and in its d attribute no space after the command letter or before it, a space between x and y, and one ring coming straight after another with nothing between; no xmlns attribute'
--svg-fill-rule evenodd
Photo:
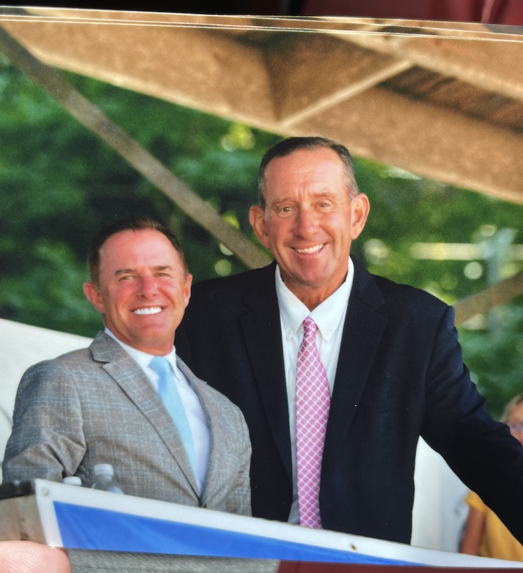
<svg viewBox="0 0 523 573"><path fill-rule="evenodd" d="M323 528L409 543L422 436L523 541L523 449L485 411L453 308L349 258L369 202L347 149L284 140L259 187L250 222L275 262L195 285L176 335L185 362L245 415L253 515L299 522L293 377L310 314L331 388Z"/></svg>

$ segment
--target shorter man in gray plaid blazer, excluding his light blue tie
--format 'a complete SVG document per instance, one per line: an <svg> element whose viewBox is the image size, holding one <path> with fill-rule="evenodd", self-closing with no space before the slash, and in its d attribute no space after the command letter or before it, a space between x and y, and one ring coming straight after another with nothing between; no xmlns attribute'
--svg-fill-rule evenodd
<svg viewBox="0 0 523 573"><path fill-rule="evenodd" d="M250 440L240 410L176 358L174 334L192 276L178 241L151 221L100 230L86 297L104 316L89 348L32 366L17 393L5 482L68 475L93 483L111 463L125 493L250 514ZM188 418L191 466L176 420L156 390L167 357Z"/></svg>

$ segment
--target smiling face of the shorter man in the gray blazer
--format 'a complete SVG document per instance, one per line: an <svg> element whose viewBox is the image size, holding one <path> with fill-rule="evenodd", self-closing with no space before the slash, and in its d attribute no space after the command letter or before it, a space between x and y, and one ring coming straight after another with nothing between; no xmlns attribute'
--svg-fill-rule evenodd
<svg viewBox="0 0 523 573"><path fill-rule="evenodd" d="M192 276L156 230L117 232L100 248L100 284L84 292L122 342L154 355L172 350L190 298Z"/></svg>

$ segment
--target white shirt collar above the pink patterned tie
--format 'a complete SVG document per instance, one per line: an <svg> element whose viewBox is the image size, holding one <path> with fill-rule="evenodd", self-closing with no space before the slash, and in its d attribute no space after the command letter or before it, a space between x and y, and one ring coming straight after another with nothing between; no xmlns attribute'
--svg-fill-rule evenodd
<svg viewBox="0 0 523 573"><path fill-rule="evenodd" d="M329 341L345 315L353 281L354 263L349 258L349 269L344 283L330 297L314 308L313 311L309 311L307 306L287 288L282 280L280 267L276 265L276 296L278 297L280 320L285 336L287 338L295 336L298 329L301 328L303 320L310 315L312 320L316 322L321 337Z"/></svg>

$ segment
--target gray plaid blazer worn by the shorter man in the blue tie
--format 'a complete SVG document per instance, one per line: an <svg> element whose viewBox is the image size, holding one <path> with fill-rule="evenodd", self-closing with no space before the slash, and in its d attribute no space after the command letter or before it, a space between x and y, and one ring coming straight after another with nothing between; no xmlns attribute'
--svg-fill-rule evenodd
<svg viewBox="0 0 523 573"><path fill-rule="evenodd" d="M78 475L112 463L131 496L250 514L250 440L241 411L178 359L211 431L200 493L181 438L146 375L110 336L31 366L20 382L3 481Z"/></svg>

